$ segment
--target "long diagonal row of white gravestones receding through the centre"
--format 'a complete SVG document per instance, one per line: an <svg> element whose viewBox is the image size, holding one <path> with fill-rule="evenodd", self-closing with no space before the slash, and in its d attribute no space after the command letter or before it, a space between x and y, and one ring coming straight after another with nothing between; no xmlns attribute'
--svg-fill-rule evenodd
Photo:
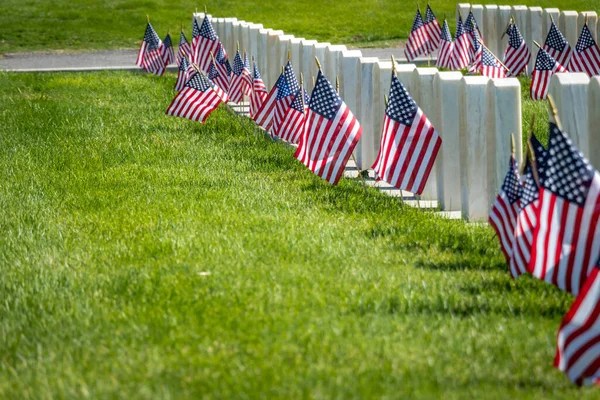
<svg viewBox="0 0 600 400"><path fill-rule="evenodd" d="M195 14L200 20L204 14ZM210 18L210 16L209 16ZM361 169L370 168L379 151L392 74L391 60L362 57L345 46L295 38L282 31L235 18L211 18L217 35L232 54L237 43L255 57L268 89L290 60L307 89L317 74L315 57L332 82L339 76L340 94L363 128L356 149ZM201 22L201 21L198 21ZM510 134L521 143L521 86L516 78L489 79L396 64L400 81L442 137L424 200L437 200L445 211L461 211L467 220L487 219L508 168ZM517 159L522 160L521 146Z"/></svg>

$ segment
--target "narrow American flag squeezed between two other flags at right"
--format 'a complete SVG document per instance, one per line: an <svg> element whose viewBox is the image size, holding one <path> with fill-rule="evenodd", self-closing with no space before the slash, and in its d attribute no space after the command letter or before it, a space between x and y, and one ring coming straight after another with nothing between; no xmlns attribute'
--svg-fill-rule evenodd
<svg viewBox="0 0 600 400"><path fill-rule="evenodd" d="M535 161L527 157L523 170L523 191L521 192L519 215L517 216L517 226L515 227L515 238L510 258L510 274L513 278L529 272L527 268L531 258L533 230L537 224L536 212L539 205L540 191L535 179L533 163L535 162L539 179L539 175L544 170L546 156L546 149L533 134L529 138L529 145L533 149L533 154L535 154Z"/></svg>

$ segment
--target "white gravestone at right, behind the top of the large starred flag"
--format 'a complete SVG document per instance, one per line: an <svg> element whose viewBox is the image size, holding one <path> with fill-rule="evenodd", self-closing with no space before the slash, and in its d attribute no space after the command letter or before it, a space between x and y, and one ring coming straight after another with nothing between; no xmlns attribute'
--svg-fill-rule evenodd
<svg viewBox="0 0 600 400"><path fill-rule="evenodd" d="M588 86L590 78L582 72L554 74L550 79L548 94L554 99L561 127L575 146L590 158L588 125ZM553 121L548 107L548 115ZM597 127L595 131L597 132Z"/></svg>

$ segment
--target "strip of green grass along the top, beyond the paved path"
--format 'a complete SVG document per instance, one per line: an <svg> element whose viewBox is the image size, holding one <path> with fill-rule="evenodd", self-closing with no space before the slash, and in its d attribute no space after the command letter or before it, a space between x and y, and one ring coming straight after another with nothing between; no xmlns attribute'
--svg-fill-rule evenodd
<svg viewBox="0 0 600 400"><path fill-rule="evenodd" d="M421 2L425 7L425 2ZM480 3L493 3L484 1ZM497 4L497 3L496 3ZM598 10L599 0L528 0L501 4ZM415 3L378 1L271 0L207 3L215 17L237 17L308 39L354 46L387 47L408 37ZM438 18L454 30L455 3L433 0ZM146 14L163 37L181 22L191 34L191 13L203 3L190 0L3 0L0 2L0 53L30 50L137 48ZM177 40L177 38L175 38Z"/></svg>

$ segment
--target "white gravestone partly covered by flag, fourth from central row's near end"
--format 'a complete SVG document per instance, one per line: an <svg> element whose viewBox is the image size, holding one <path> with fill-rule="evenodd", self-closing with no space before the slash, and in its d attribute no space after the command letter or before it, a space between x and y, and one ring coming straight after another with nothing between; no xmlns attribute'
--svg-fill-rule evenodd
<svg viewBox="0 0 600 400"><path fill-rule="evenodd" d="M415 68L413 70L412 97L423 113L430 118L436 112L436 102L433 97L433 79L437 75L437 68ZM433 165L423 193L425 200L437 200L437 162Z"/></svg>

